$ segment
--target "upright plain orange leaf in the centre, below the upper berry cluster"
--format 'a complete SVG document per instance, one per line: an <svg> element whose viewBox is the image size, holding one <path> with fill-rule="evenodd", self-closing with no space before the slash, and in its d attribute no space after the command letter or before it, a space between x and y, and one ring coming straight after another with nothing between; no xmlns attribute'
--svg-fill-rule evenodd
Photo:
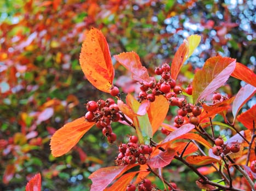
<svg viewBox="0 0 256 191"><path fill-rule="evenodd" d="M161 126L164 119L166 118L166 114L169 110L169 104L165 97L156 96L155 102L150 103L150 108L147 111L149 115L149 121L152 126L152 132L155 134L157 129Z"/></svg>

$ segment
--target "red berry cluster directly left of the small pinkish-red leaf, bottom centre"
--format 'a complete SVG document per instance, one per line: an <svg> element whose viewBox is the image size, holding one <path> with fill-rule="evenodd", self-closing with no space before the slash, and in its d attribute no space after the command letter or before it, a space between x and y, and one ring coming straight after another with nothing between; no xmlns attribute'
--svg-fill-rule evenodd
<svg viewBox="0 0 256 191"><path fill-rule="evenodd" d="M138 145L138 138L135 135L130 136L127 144L120 144L119 153L115 160L118 166L134 164L146 164L148 154L152 153L152 147L149 145Z"/></svg>

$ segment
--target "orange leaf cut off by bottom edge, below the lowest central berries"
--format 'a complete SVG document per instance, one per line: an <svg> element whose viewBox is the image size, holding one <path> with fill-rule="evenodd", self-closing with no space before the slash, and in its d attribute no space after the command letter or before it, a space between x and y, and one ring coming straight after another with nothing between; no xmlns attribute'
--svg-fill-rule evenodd
<svg viewBox="0 0 256 191"><path fill-rule="evenodd" d="M118 190L118 191L126 191L128 184L133 180L133 177L139 173L140 171L129 172L121 178L119 178L115 183L112 184L111 187L107 188L106 191Z"/></svg>

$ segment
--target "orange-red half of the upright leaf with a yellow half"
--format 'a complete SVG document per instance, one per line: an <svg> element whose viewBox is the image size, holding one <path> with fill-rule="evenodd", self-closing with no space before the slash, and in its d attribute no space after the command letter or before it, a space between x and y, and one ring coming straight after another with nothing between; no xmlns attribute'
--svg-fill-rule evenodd
<svg viewBox="0 0 256 191"><path fill-rule="evenodd" d="M186 61L189 54L189 44L184 40L183 44L180 45L179 49L174 55L172 65L170 67L170 76L172 79L176 80L179 74L180 68Z"/></svg>

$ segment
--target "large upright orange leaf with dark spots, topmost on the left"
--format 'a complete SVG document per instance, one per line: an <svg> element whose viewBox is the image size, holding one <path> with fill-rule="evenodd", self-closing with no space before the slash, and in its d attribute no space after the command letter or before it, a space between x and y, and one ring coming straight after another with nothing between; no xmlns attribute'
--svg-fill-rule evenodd
<svg viewBox="0 0 256 191"><path fill-rule="evenodd" d="M113 84L114 69L111 61L109 45L96 28L90 29L84 40L79 63L88 81L103 92L110 92Z"/></svg>

